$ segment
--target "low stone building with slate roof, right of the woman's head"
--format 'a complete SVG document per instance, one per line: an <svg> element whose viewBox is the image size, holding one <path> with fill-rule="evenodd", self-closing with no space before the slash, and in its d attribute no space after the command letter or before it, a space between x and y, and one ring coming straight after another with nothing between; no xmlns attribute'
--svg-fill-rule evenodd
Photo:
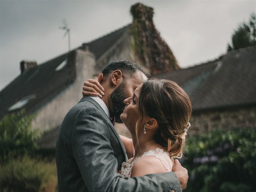
<svg viewBox="0 0 256 192"><path fill-rule="evenodd" d="M213 128L256 128L256 46L190 68L160 74L190 96L190 134Z"/></svg>

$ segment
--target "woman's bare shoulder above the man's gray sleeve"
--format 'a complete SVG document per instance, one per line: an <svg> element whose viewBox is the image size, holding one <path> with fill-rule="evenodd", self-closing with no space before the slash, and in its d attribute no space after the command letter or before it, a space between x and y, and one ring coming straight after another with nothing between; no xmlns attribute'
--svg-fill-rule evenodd
<svg viewBox="0 0 256 192"><path fill-rule="evenodd" d="M132 166L131 177L166 172L162 162L154 156L143 156Z"/></svg>

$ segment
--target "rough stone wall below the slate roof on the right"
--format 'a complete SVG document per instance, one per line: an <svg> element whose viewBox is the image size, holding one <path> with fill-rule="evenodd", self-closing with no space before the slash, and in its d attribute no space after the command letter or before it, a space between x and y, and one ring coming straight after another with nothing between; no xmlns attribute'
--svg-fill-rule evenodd
<svg viewBox="0 0 256 192"><path fill-rule="evenodd" d="M190 124L189 134L202 134L214 128L256 128L256 107L195 112Z"/></svg>

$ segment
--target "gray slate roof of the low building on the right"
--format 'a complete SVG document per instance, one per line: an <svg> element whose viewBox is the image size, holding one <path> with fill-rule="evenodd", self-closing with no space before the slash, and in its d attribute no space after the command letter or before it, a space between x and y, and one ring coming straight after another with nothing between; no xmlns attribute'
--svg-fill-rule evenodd
<svg viewBox="0 0 256 192"><path fill-rule="evenodd" d="M190 96L193 111L256 104L256 46L228 52L198 66L162 74Z"/></svg>

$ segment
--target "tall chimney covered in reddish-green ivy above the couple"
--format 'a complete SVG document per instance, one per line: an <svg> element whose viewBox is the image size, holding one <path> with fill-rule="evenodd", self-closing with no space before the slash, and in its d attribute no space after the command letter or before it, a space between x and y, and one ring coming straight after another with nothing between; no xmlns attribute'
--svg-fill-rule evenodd
<svg viewBox="0 0 256 192"><path fill-rule="evenodd" d="M131 33L134 51L140 62L150 69L151 74L179 69L172 50L153 23L153 8L137 3L131 7L130 12L133 16Z"/></svg>

